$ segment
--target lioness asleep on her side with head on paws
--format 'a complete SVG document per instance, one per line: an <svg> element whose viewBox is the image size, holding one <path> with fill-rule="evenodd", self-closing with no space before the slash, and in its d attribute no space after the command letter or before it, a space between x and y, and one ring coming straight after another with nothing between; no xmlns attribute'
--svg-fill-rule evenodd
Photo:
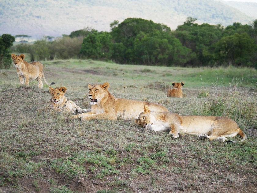
<svg viewBox="0 0 257 193"><path fill-rule="evenodd" d="M244 142L247 138L237 123L227 117L184 116L171 112L150 112L147 105L144 105L144 112L140 113L135 122L145 130L170 130L169 134L174 138L178 138L180 132L198 135L199 139L218 140L219 142L224 142L226 137L234 137L237 134L243 138L240 142ZM226 142L236 143L234 141Z"/></svg>

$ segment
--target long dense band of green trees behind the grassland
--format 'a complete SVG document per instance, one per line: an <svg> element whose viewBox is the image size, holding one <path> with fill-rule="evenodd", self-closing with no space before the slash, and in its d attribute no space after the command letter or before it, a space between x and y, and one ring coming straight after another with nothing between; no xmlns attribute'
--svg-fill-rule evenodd
<svg viewBox="0 0 257 193"><path fill-rule="evenodd" d="M110 32L82 29L52 42L12 47L32 60L88 58L120 64L161 66L254 66L257 68L257 19L251 25L227 27L194 23L188 17L171 31L163 24L127 18L110 24Z"/></svg>

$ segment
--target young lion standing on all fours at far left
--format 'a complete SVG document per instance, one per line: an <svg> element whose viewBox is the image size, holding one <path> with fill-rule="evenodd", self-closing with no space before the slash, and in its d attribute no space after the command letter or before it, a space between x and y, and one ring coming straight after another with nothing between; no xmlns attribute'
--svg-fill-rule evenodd
<svg viewBox="0 0 257 193"><path fill-rule="evenodd" d="M49 84L44 76L43 72L43 64L41 62L31 62L28 63L24 61L25 55L15 55L12 54L13 64L16 67L17 74L19 76L20 85L24 84L24 78L25 78L25 85L28 86L29 80L35 80L38 81L38 88L43 88L43 81L42 77L44 78L45 82L48 86L53 85L54 82Z"/></svg>

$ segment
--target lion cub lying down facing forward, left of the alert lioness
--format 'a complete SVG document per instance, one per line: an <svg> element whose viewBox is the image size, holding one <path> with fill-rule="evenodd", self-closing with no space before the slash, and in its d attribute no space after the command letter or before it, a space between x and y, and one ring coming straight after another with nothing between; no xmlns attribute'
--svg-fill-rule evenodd
<svg viewBox="0 0 257 193"><path fill-rule="evenodd" d="M57 87L55 89L49 87L48 89L52 97L50 99L50 102L53 105L54 109L58 110L59 112L72 111L73 113L75 113L75 111L77 110L79 113L82 113L89 111L89 109L81 109L72 100L66 99L66 97L64 96L64 93L67 90L65 86L61 88Z"/></svg>

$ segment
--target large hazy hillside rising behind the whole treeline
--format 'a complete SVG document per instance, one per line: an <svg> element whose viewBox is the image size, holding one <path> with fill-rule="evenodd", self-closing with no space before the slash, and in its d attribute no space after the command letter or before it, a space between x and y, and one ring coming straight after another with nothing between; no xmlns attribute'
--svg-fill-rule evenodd
<svg viewBox="0 0 257 193"><path fill-rule="evenodd" d="M176 29L187 17L197 23L232 25L254 20L228 2L214 0L1 0L0 34L61 36L92 27L110 31L110 23L140 17Z"/></svg>

